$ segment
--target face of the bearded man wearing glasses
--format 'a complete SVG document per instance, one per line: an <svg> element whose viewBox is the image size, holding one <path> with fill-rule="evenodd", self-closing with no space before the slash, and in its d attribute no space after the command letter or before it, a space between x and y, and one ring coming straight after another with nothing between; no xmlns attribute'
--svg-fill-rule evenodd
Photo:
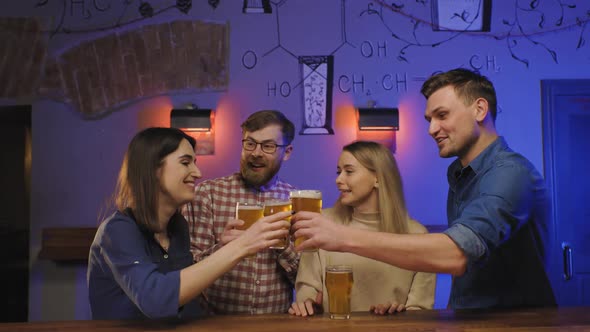
<svg viewBox="0 0 590 332"><path fill-rule="evenodd" d="M256 143L286 144L281 126L277 124L253 132L246 131L242 139ZM283 161L289 159L292 150L292 145L277 147L274 153L263 152L261 145L256 145L253 151L246 151L242 148L240 173L244 181L254 187L266 185L279 172Z"/></svg>

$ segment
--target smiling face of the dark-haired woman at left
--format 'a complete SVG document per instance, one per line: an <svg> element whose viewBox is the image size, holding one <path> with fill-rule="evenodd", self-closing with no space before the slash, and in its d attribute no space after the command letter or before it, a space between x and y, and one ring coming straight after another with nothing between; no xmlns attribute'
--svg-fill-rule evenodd
<svg viewBox="0 0 590 332"><path fill-rule="evenodd" d="M160 206L179 208L191 202L195 195L195 181L199 178L201 171L196 165L195 151L183 139L178 149L162 160L162 166L158 169Z"/></svg>

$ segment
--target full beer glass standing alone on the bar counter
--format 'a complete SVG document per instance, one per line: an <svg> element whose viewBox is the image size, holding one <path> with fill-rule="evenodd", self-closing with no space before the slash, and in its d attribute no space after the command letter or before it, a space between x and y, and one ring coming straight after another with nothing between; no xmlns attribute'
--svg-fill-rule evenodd
<svg viewBox="0 0 590 332"><path fill-rule="evenodd" d="M350 318L350 292L352 290L352 266L329 265L326 267L328 312L331 319Z"/></svg>

